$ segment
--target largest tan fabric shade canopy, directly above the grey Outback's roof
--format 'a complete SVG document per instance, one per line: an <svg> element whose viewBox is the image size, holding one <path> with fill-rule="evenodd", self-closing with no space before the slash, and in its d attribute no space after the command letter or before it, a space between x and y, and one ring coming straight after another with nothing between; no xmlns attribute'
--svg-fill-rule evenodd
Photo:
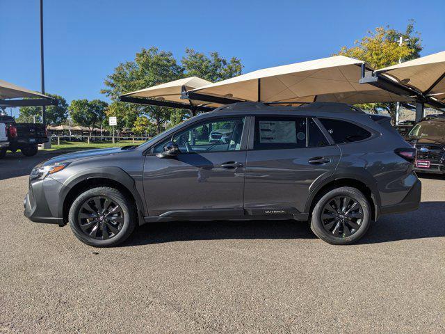
<svg viewBox="0 0 445 334"><path fill-rule="evenodd" d="M192 93L251 102L357 104L410 100L369 84L359 84L362 64L363 61L354 58L332 56L257 70L196 88Z"/></svg>

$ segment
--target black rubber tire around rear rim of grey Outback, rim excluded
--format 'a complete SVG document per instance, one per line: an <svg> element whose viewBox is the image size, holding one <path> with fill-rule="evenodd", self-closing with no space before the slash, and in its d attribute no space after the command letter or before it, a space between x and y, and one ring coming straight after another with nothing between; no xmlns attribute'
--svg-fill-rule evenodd
<svg viewBox="0 0 445 334"><path fill-rule="evenodd" d="M349 237L339 238L334 237L332 234L327 232L323 228L323 222L321 221L321 213L325 204L332 200L332 198L337 196L348 196L357 200L363 209L363 221L362 225L357 232L350 235ZM312 219L311 219L311 229L316 234L317 237L323 239L329 244L335 245L347 245L352 244L355 241L361 239L364 234L366 234L369 226L371 225L371 207L369 201L366 200L366 197L363 195L361 191L355 188L350 188L343 186L341 188L332 189L323 195L320 200L316 203L314 210L312 211Z"/></svg>

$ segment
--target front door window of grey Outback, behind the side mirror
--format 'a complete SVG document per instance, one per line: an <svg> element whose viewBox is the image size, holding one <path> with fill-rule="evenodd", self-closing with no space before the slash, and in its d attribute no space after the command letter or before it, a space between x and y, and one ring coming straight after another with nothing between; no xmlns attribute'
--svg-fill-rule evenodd
<svg viewBox="0 0 445 334"><path fill-rule="evenodd" d="M223 118L208 120L199 125L188 127L173 135L173 141L178 144L182 153L222 152L241 150L244 118ZM163 151L164 141L154 148L154 153Z"/></svg>

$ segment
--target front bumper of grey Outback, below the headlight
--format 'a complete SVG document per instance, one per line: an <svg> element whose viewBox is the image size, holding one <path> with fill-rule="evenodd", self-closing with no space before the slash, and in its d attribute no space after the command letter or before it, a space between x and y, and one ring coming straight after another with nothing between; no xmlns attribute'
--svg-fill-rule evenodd
<svg viewBox="0 0 445 334"><path fill-rule="evenodd" d="M36 223L65 225L59 214L62 203L58 194L61 187L62 184L51 177L29 182L29 191L23 201L26 218Z"/></svg>

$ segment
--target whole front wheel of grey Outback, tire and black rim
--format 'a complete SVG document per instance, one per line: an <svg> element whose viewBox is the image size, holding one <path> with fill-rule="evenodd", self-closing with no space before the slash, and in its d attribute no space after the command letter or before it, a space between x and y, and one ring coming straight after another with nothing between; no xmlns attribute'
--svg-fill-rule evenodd
<svg viewBox="0 0 445 334"><path fill-rule="evenodd" d="M97 214L101 209L102 214ZM111 212L113 209L114 213ZM110 247L122 243L136 227L136 219L133 202L118 189L106 186L81 193L72 203L68 216L70 228L77 239L94 247Z"/></svg>

